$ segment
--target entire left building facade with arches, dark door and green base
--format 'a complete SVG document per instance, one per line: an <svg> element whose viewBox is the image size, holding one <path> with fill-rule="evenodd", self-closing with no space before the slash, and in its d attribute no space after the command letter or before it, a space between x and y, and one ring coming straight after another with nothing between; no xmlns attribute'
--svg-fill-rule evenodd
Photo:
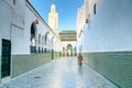
<svg viewBox="0 0 132 88"><path fill-rule="evenodd" d="M1 82L50 62L62 51L58 35L29 0L0 0L0 20Z"/></svg>

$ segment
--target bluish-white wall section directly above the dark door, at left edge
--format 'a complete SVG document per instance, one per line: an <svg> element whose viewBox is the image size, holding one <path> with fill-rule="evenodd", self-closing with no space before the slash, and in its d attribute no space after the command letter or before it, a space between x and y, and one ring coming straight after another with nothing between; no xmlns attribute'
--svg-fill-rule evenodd
<svg viewBox="0 0 132 88"><path fill-rule="evenodd" d="M2 38L10 40L13 3L0 0L0 55Z"/></svg>

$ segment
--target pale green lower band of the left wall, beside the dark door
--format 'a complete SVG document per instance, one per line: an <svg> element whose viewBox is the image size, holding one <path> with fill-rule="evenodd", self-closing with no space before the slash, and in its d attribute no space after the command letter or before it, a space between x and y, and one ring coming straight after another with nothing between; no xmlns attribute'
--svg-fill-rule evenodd
<svg viewBox="0 0 132 88"><path fill-rule="evenodd" d="M21 75L52 61L51 53L12 55L12 77Z"/></svg>

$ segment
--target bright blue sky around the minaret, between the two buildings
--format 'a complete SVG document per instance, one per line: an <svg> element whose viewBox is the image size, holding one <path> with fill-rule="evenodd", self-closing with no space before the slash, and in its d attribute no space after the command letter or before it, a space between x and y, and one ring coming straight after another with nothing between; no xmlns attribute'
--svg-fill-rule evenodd
<svg viewBox="0 0 132 88"><path fill-rule="evenodd" d="M59 31L76 30L77 9L82 6L84 0L31 0L31 3L47 22L53 1L58 12Z"/></svg>

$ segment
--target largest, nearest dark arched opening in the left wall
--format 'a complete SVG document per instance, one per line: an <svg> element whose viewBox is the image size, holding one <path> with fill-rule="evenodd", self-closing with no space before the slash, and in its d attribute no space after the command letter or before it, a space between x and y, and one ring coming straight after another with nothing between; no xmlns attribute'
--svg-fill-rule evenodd
<svg viewBox="0 0 132 88"><path fill-rule="evenodd" d="M36 25L33 22L31 25L31 45L30 53L36 53Z"/></svg>

